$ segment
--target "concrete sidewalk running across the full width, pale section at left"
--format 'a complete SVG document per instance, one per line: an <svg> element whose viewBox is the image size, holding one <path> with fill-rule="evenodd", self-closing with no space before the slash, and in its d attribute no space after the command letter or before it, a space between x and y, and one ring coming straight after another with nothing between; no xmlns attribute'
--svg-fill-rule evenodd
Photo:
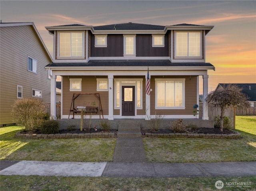
<svg viewBox="0 0 256 191"><path fill-rule="evenodd" d="M6 165L8 163L8 165ZM81 177L212 177L256 176L255 162L116 163L0 161L1 175ZM4 168L5 167L5 168Z"/></svg>

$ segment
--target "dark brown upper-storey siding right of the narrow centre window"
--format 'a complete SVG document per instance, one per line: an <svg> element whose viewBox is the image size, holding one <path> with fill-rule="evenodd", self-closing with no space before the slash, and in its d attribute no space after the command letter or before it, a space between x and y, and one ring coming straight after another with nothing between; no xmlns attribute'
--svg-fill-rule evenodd
<svg viewBox="0 0 256 191"><path fill-rule="evenodd" d="M164 47L152 47L151 34L136 35L136 56L137 57L155 57L168 56L168 34L164 37Z"/></svg>

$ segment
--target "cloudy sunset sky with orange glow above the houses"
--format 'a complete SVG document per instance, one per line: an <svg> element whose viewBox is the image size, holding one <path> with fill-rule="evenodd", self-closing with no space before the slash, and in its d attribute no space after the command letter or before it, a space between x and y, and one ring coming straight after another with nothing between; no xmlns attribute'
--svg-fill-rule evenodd
<svg viewBox="0 0 256 191"><path fill-rule="evenodd" d="M126 22L214 26L206 35L206 62L216 68L209 71L209 91L218 83L256 83L256 1L1 0L0 18L34 22L51 54L53 36L46 26Z"/></svg>

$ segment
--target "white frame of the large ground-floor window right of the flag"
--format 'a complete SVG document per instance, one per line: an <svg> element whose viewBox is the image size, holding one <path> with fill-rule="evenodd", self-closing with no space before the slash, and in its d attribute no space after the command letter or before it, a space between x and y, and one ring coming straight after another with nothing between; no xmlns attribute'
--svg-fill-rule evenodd
<svg viewBox="0 0 256 191"><path fill-rule="evenodd" d="M169 106L158 106L157 105L157 82L159 81L180 81L182 82L182 106L173 106L173 107L169 107ZM155 93L155 107L156 109L185 109L185 78L177 78L177 79L172 79L172 78L168 78L168 79L155 79L155 84L156 84L156 93Z"/></svg>

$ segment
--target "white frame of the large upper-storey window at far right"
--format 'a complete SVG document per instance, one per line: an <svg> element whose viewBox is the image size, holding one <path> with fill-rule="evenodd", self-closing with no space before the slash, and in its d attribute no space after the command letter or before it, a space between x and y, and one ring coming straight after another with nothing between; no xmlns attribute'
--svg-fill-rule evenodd
<svg viewBox="0 0 256 191"><path fill-rule="evenodd" d="M177 56L177 33L188 33L188 36L189 36L189 33L200 33L200 56ZM175 31L174 32L174 58L176 59L188 59L188 58L191 58L191 59L202 59L202 49L203 49L203 44L202 44L202 31L199 30L199 31L194 31L194 30L191 30L191 31ZM189 53L189 38L188 38L188 53Z"/></svg>

